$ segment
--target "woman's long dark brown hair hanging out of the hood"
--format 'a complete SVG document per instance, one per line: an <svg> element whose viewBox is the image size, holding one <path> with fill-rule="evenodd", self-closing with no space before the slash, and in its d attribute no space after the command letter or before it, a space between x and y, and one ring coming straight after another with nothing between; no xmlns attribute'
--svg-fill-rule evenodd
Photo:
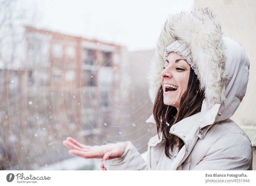
<svg viewBox="0 0 256 186"><path fill-rule="evenodd" d="M153 115L156 121L156 129L157 134L163 131L163 137L166 139L165 141L165 155L171 158L171 154L169 153L169 148L171 147L171 151L173 152L173 148L175 143L178 145L178 151L180 151L181 147L184 145L182 139L178 136L170 134L170 128L175 123L180 120L187 118L201 111L202 102L204 100L204 90L199 89L199 80L194 70L190 67L190 74L188 79L188 89L183 93L180 98L180 108L179 112L174 106L165 105L164 97L163 97L163 87L160 86L159 91L157 91L154 107L153 107ZM168 126L167 123L170 125Z"/></svg>

